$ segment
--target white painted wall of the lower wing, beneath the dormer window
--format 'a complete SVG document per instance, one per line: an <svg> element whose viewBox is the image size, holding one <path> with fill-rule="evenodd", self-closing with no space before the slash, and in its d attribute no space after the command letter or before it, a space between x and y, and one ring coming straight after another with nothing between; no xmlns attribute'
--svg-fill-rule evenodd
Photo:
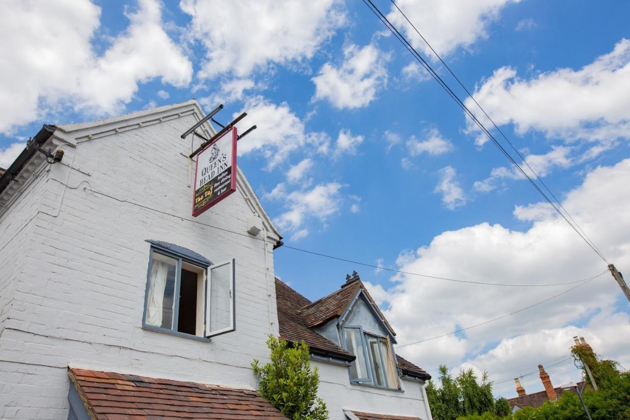
<svg viewBox="0 0 630 420"><path fill-rule="evenodd" d="M430 419L420 382L401 379L401 390L383 390L350 384L345 366L315 360L311 366L319 370L318 396L326 402L330 420L347 420L344 410Z"/></svg>

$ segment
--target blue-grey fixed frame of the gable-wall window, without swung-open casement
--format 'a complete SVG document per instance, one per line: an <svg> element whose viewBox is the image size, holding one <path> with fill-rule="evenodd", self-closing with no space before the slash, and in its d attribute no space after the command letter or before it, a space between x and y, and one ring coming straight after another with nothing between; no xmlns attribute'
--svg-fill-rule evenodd
<svg viewBox="0 0 630 420"><path fill-rule="evenodd" d="M186 248L183 247L178 247L177 245L173 245L173 244L169 244L166 242L160 242L160 241L153 241L153 240L149 240L147 239L146 242L151 243L151 247L149 248L149 267L147 268L147 284L145 286L144 289L144 309L142 310L142 329L146 329L146 330L151 330L151 331L156 331L156 332L164 332L166 334L172 334L172 335L179 335L180 337L187 337L187 338L192 338L192 339L198 339L201 341L211 341L211 339L207 338L207 337L200 337L199 335L193 335L193 334L186 334L185 332L180 332L177 330L177 315L179 312L179 299L175 299L175 296L179 296L180 293L180 276L181 276L181 261L186 261L190 264L193 265L197 265L197 267L203 268L205 270L205 276L208 275L208 267L209 265L212 265L212 262L210 262L209 259L206 259L204 257L201 257L201 255L197 254L196 252L193 252L191 250L188 250ZM157 242L157 245L154 243ZM165 248L163 246L161 246L160 244L164 244L166 243L166 245L171 245L173 248L172 249L183 249L186 250L189 253L195 254L195 255L199 255L199 257L201 257L201 259L197 259L196 257L194 257L194 255L191 257L190 254L187 255L180 255L177 254L176 252L173 252L173 250L171 250L171 248ZM173 310L173 329L169 330L168 328L163 328L163 327L156 327L155 325L149 325L146 323L146 319L147 319L147 300L149 300L149 284L151 283L151 267L153 264L153 252L157 252L158 254L162 254L162 255L166 255L167 257L171 257L171 258L175 258L177 259L177 269L176 269L176 274L175 274L175 288L176 290L173 291L174 296L173 296L173 301L175 302L175 309ZM188 257L188 258L186 258ZM205 265L206 263L208 263L208 265ZM205 265L205 267L203 267L203 265ZM204 314L204 319L205 319L205 314Z"/></svg>

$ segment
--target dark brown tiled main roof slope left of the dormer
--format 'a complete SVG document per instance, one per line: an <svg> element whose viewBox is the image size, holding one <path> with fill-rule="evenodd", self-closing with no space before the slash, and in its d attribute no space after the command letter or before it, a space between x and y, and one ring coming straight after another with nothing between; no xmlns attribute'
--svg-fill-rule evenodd
<svg viewBox="0 0 630 420"><path fill-rule="evenodd" d="M304 340L311 347L312 353L328 354L347 361L355 359L355 356L336 346L336 344L309 329L304 324L299 315L299 310L311 303L311 301L278 279L276 279L275 286L280 338L289 342Z"/></svg>

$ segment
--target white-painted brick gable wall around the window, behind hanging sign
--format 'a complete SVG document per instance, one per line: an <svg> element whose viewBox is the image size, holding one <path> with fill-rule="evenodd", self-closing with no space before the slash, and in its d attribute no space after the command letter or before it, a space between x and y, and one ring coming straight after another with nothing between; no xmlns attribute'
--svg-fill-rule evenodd
<svg viewBox="0 0 630 420"><path fill-rule="evenodd" d="M13 204L40 213L10 245L12 254L0 256L0 303L8 308L0 318L0 418L66 419L69 365L256 387L251 361L265 360L267 335L278 334L272 247L246 233L253 200L242 191L196 219L242 235L186 220L192 219L190 137L180 134L197 119L180 112L158 124L83 139L76 149L64 146L64 163L74 169L51 166L38 184L45 192L33 185ZM79 134L86 133L65 137L73 143ZM9 209L0 230L16 231L26 216ZM236 258L235 332L203 342L142 329L146 239L190 248L212 262Z"/></svg>

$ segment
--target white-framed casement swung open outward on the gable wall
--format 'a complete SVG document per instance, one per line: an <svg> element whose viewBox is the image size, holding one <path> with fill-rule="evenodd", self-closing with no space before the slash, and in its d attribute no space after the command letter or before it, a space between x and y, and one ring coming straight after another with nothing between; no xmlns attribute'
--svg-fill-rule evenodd
<svg viewBox="0 0 630 420"><path fill-rule="evenodd" d="M208 268L205 306L205 336L225 334L236 327L234 259Z"/></svg>

